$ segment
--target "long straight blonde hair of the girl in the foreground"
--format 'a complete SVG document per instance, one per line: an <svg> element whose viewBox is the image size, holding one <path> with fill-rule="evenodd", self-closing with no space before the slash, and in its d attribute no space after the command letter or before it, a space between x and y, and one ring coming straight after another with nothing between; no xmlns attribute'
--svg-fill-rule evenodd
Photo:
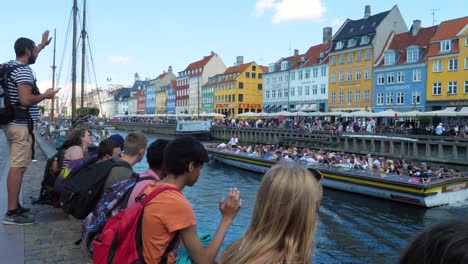
<svg viewBox="0 0 468 264"><path fill-rule="evenodd" d="M257 191L250 225L222 254L221 263L309 263L314 247L322 187L296 163L267 171Z"/></svg>

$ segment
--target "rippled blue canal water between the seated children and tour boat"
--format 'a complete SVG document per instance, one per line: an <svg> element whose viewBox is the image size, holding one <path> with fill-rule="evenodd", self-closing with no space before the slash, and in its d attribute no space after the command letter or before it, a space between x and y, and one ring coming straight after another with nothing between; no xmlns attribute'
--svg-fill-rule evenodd
<svg viewBox="0 0 468 264"><path fill-rule="evenodd" d="M126 132L119 131L123 136ZM148 135L149 142L156 139ZM137 172L148 167L146 160ZM221 251L250 223L261 174L210 161L198 182L183 190L197 216L199 232L215 233L221 214L218 201L231 187L241 191L243 206ZM396 263L400 251L422 229L440 221L468 217L468 205L424 209L411 205L325 189L321 202L313 263Z"/></svg>

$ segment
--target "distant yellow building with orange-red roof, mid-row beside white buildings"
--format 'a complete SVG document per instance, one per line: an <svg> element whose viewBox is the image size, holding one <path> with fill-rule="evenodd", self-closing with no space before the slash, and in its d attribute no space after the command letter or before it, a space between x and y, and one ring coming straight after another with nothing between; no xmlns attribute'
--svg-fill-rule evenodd
<svg viewBox="0 0 468 264"><path fill-rule="evenodd" d="M244 64L241 56L236 64L208 80L207 84L214 87L214 112L227 117L261 112L263 73L268 70L267 67L255 62Z"/></svg>

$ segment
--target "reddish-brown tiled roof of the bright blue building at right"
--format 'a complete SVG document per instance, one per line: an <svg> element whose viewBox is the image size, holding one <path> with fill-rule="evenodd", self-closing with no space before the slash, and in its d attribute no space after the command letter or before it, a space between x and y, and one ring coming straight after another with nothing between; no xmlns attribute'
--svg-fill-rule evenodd
<svg viewBox="0 0 468 264"><path fill-rule="evenodd" d="M400 56L398 57L398 60L395 62L395 65L406 63L406 49L411 46L424 48L420 54L420 57L419 57L420 59L418 62L423 61L429 50L428 49L429 42L431 38L434 36L434 34L436 33L436 31L437 31L437 26L433 26L429 28L419 29L418 35L414 37L412 35L411 30L405 33L395 35L392 42L390 43L390 46L388 47L388 50L395 50L395 51L401 52ZM382 64L383 63L384 62L382 61Z"/></svg>

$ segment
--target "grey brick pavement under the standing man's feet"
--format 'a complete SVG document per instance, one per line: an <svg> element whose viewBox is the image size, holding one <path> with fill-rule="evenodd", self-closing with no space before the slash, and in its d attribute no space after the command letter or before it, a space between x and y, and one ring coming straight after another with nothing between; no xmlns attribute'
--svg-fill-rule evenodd
<svg viewBox="0 0 468 264"><path fill-rule="evenodd" d="M38 135L39 136L39 135ZM39 136L40 137L40 136ZM37 198L46 163L46 154L41 145L47 141L38 138L36 145L37 162L31 163L26 171L22 187L22 203L32 209L31 215L38 223L30 226L0 227L0 263L91 263L80 246L73 244L81 233L81 221L64 214L61 209L50 205L31 205L32 198ZM0 132L0 209L6 207L6 175L9 164L5 136ZM44 146L50 152L53 147ZM50 155L50 153L48 153ZM2 215L3 217L3 215ZM7 249L5 249L5 246ZM8 257L8 261L5 261Z"/></svg>

